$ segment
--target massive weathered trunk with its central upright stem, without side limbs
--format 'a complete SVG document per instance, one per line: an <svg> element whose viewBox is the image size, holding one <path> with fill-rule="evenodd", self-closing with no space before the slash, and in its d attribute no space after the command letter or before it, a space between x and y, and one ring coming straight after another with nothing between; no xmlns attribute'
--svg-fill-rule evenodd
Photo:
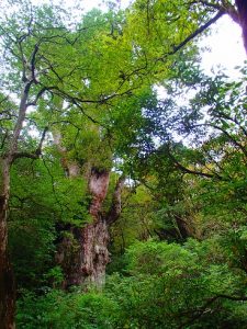
<svg viewBox="0 0 247 329"><path fill-rule="evenodd" d="M89 214L92 223L82 228L70 227L70 237L64 238L58 246L57 262L65 273L65 288L90 284L100 288L104 283L105 266L109 263L109 231L101 207L108 193L109 179L109 171L91 170Z"/></svg>

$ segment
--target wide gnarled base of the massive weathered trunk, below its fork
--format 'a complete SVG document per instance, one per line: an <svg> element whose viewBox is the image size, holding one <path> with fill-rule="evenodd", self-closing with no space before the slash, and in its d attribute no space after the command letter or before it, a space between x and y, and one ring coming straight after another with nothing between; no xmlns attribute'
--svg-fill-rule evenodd
<svg viewBox="0 0 247 329"><path fill-rule="evenodd" d="M105 220L99 219L83 228L71 228L71 237L58 247L57 262L65 273L64 288L90 284L102 287L109 263L109 232Z"/></svg>

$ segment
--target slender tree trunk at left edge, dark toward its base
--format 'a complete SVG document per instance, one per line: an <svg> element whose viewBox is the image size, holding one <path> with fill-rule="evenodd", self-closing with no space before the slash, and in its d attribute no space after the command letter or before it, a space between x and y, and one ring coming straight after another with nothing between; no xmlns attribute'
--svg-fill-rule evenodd
<svg viewBox="0 0 247 329"><path fill-rule="evenodd" d="M8 206L10 198L10 169L18 155L18 143L26 114L26 103L33 80L24 83L18 120L9 149L0 159L0 329L14 328L15 287L12 266L8 256Z"/></svg>

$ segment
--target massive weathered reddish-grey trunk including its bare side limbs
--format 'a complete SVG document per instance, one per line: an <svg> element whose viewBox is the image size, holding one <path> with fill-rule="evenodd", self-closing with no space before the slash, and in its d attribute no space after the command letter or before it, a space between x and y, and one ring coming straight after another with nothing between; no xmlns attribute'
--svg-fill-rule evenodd
<svg viewBox="0 0 247 329"><path fill-rule="evenodd" d="M67 149L63 146L59 132L53 132L54 143L61 155L61 166L68 179L80 174L80 168L76 161L67 159ZM105 266L110 261L109 226L116 220L121 212L121 191L124 178L121 178L115 186L112 197L112 206L106 216L102 215L102 204L105 200L110 171L105 169L90 168L88 190L91 195L89 214L92 223L82 228L67 225L64 230L69 232L57 246L56 261L61 265L65 274L63 286L93 284L102 287L105 277Z"/></svg>

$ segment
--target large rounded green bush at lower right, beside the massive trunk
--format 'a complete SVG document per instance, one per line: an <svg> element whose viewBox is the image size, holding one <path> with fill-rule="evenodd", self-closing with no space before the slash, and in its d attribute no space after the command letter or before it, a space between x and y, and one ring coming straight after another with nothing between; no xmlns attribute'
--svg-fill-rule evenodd
<svg viewBox="0 0 247 329"><path fill-rule="evenodd" d="M244 275L232 273L220 261L212 264L213 250L207 246L192 240L184 247L160 242L132 246L126 256L131 276L116 275L109 283L110 294L123 311L120 327L209 328L214 324L214 328L224 328L236 320L244 328L244 304L210 303L215 295L239 293L236 286Z"/></svg>

